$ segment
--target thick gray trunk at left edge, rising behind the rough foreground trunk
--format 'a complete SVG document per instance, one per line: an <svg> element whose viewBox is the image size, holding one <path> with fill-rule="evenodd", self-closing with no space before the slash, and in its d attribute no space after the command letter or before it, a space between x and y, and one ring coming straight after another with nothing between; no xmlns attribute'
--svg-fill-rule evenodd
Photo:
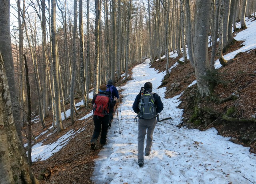
<svg viewBox="0 0 256 184"><path fill-rule="evenodd" d="M7 80L12 99L12 113L19 139L21 137L20 104L16 96L16 86L14 78L14 65L12 58L12 43L10 36L10 0L0 0L0 51L4 60L7 73Z"/></svg>

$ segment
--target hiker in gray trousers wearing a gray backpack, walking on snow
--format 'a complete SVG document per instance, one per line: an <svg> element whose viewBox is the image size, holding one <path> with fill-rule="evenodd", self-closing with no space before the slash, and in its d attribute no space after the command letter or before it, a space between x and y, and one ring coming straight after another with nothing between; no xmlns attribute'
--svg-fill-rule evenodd
<svg viewBox="0 0 256 184"><path fill-rule="evenodd" d="M138 165L144 165L144 139L147 134L145 156L150 155L153 142L153 132L156 127L156 117L164 109L160 96L152 93L152 83L146 82L136 96L132 109L137 113L138 123Z"/></svg>

